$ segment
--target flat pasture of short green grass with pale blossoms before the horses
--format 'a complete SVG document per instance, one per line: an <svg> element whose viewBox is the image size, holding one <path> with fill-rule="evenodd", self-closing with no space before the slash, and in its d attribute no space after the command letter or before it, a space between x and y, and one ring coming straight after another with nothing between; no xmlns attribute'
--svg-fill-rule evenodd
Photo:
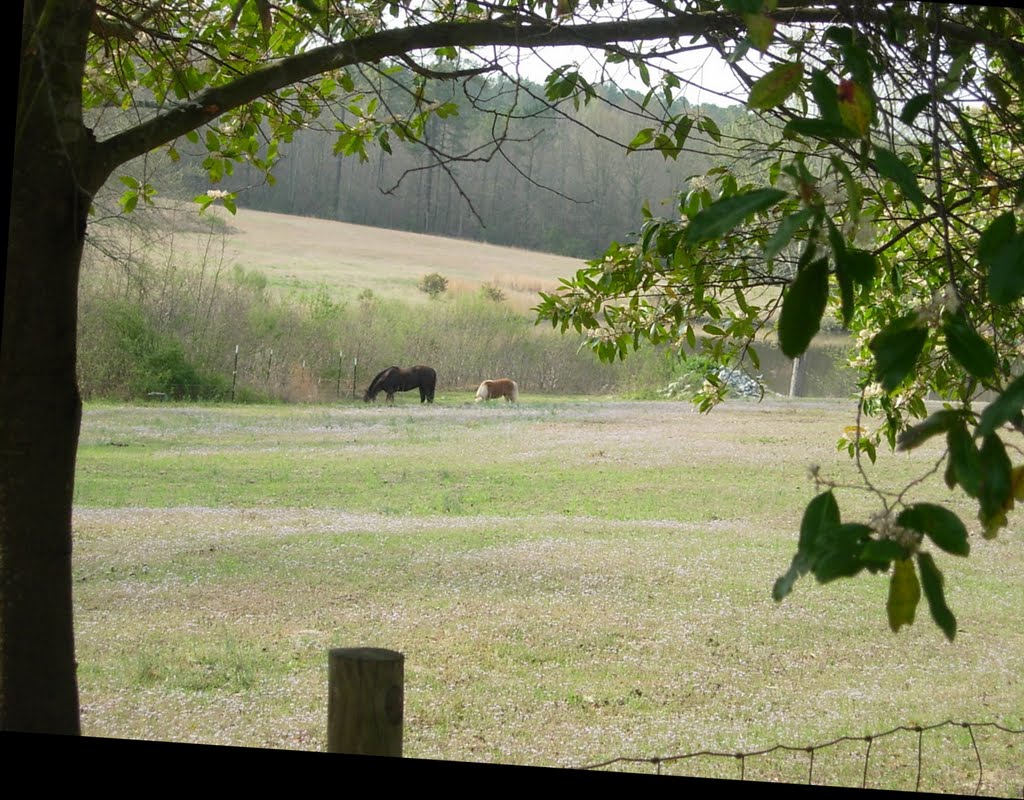
<svg viewBox="0 0 1024 800"><path fill-rule="evenodd" d="M578 767L809 746L946 719L1024 726L1024 541L937 555L955 642L887 578L810 577L781 604L809 468L857 474L850 402L421 407L88 406L75 503L84 732L323 750L327 654L406 656L407 756ZM899 490L937 447L880 455ZM840 490L844 518L878 507ZM918 499L971 506L939 476ZM982 793L1019 796L1024 738L977 735ZM864 744L816 755L859 786ZM972 792L967 730L925 739L923 790ZM805 781L806 756L744 761ZM918 738L868 786L912 789ZM652 771L651 766L640 768ZM677 774L738 776L735 759Z"/></svg>

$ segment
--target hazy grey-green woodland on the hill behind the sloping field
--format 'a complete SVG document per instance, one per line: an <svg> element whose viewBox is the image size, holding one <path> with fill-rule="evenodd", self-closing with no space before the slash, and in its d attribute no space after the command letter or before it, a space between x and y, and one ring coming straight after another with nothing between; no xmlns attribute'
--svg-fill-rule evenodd
<svg viewBox="0 0 1024 800"><path fill-rule="evenodd" d="M407 88L391 80L361 91L380 93L390 108L388 100ZM341 102L325 104L281 144L272 181L247 162L216 187L259 211L593 257L635 229L644 204L671 209L681 182L730 158L697 131L686 151L631 152L637 122L629 110L640 108L642 95L614 87L598 90L601 101L557 110L543 99L545 87L530 82L514 87L477 78L438 91L446 93L433 101L453 111L427 120L417 141L392 137L387 150L339 158L335 123L353 124L354 114ZM456 112L465 96L474 101ZM672 110L702 116L716 130L741 126L750 116L740 106L695 108L681 97ZM178 191L202 194L211 186L202 167L206 150L182 144L180 151Z"/></svg>

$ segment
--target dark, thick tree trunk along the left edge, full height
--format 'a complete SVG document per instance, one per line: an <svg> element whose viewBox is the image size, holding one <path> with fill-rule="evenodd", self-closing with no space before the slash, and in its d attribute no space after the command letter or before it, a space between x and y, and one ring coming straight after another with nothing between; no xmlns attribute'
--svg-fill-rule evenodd
<svg viewBox="0 0 1024 800"><path fill-rule="evenodd" d="M0 339L0 729L78 733L78 276L102 179L80 108L92 4L42 5L25 5Z"/></svg>

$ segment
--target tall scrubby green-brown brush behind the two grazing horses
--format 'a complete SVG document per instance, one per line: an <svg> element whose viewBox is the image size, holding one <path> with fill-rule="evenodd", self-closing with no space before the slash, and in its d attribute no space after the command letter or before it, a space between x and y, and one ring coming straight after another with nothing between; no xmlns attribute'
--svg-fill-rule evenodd
<svg viewBox="0 0 1024 800"><path fill-rule="evenodd" d="M601 364L579 338L478 291L426 303L367 291L343 301L323 284L271 292L265 276L238 265L129 278L92 264L79 340L83 395L111 399L217 399L233 387L238 401L336 401L361 395L392 364L434 367L441 390L510 376L534 392L629 392L664 385L675 362L650 349Z"/></svg>

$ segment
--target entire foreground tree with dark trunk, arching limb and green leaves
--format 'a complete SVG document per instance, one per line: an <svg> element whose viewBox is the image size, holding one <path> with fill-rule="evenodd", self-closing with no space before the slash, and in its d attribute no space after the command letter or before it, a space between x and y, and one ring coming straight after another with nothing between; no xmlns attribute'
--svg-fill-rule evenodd
<svg viewBox="0 0 1024 800"><path fill-rule="evenodd" d="M671 159L698 134L722 137L677 103L692 80L676 62L687 51L725 55L751 110L775 126L772 139L751 142L745 167L681 185L678 217L644 220L637 242L613 245L546 298L542 313L592 331L607 356L641 338L692 340L693 322L710 318L703 331L729 360L756 357L755 337L773 324L782 348L801 352L833 307L863 335L863 403L887 414L885 434L895 440L907 414L924 414L927 389L947 397L949 409L900 441L945 436L950 487L977 498L986 535L1005 524L1020 483L1006 426L1020 427L1024 404L1014 378L1024 293L1017 11L787 0L26 0L23 8L0 342L0 728L79 729L76 303L99 188L154 149L174 158L182 137L206 149L214 181L240 162L269 173L282 146L324 114L336 117L340 156L413 141L444 171L474 153L424 140L428 119L458 113L435 100L434 87L488 76L483 85L514 94L522 59L538 47L587 48L592 64L629 71L645 87L642 102L623 100L637 122L624 154L655 149ZM544 55L558 65L544 97L522 95L495 114L495 142L527 99L556 112L607 101L583 50L558 52ZM403 101L356 90L357 74L371 85L401 76ZM125 209L153 197L146 175L123 178ZM200 201L231 208L234 198ZM997 399L979 418L972 402L982 389ZM830 491L812 502L777 595L807 572L826 581L891 570L893 627L912 619L920 581L951 637L941 575L921 544L966 554L966 530L908 494L879 498L888 521L874 525L841 522Z"/></svg>

